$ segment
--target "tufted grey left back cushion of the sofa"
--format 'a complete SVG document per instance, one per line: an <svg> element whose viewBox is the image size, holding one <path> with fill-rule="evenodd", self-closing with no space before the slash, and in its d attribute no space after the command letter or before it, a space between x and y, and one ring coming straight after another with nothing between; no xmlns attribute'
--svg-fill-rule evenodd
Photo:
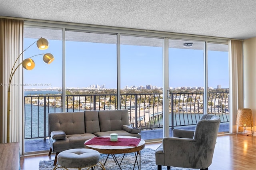
<svg viewBox="0 0 256 170"><path fill-rule="evenodd" d="M63 130L67 134L83 134L84 112L49 113L50 132Z"/></svg>

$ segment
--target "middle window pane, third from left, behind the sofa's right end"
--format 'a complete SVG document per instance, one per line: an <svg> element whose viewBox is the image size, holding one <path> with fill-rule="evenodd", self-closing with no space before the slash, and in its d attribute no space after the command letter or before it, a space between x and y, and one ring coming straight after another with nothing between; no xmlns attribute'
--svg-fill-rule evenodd
<svg viewBox="0 0 256 170"><path fill-rule="evenodd" d="M134 127L162 127L162 58L163 39L120 36L121 107Z"/></svg>

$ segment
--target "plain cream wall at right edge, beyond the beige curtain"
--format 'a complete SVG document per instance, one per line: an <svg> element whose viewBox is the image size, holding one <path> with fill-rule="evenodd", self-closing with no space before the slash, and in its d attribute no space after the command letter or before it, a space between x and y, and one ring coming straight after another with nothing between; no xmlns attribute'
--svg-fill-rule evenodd
<svg viewBox="0 0 256 170"><path fill-rule="evenodd" d="M256 38L244 40L244 107L252 109L256 131Z"/></svg>

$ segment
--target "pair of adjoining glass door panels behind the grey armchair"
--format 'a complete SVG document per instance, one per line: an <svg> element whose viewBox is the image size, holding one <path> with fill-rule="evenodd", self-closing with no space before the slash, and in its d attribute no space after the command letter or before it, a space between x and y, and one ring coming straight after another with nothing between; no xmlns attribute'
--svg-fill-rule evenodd
<svg viewBox="0 0 256 170"><path fill-rule="evenodd" d="M204 52L206 51L206 52ZM229 130L228 45L169 40L170 127L196 125L202 114Z"/></svg>

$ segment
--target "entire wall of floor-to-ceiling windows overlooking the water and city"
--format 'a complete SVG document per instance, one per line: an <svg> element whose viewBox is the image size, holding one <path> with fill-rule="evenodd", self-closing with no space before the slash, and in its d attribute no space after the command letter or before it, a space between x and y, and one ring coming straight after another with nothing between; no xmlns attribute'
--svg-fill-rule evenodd
<svg viewBox="0 0 256 170"><path fill-rule="evenodd" d="M43 62L35 60L39 71L24 71L24 83L34 85L29 92L24 88L24 95L36 93L34 97L25 98L26 114L31 115L35 111L31 120L25 121L25 127L30 126L30 129L25 129L28 138L44 136L44 140L47 140L48 127L44 130L47 132L41 132L38 128L45 125L45 120L40 121L39 112L47 116L51 112L114 110L119 109L118 104L121 109L128 109L130 123L133 127L142 129L143 139L162 138L164 100L170 101L171 128L195 125L204 113L222 113L222 120L229 121L229 93L222 93L228 92L226 44L169 39L170 99L164 99L165 45L164 39L159 38L162 36L138 36L138 33L135 36L130 32L118 34L113 31L108 33L106 30L105 33L99 33L99 30L86 32L86 29L82 32L81 28L80 31L74 30L76 29L62 32L42 28L24 29L25 35L29 35L25 36L24 47L40 37L47 38L50 42L48 52L55 57L54 62L42 67L38 63ZM208 48L207 55L205 47ZM219 67L220 63L222 67ZM208 87L205 87L205 80ZM38 87L37 84L42 83L50 85L46 88L46 97L38 93L46 90ZM62 91L62 87L65 90ZM208 94L207 102L204 101L205 89ZM117 96L119 91L120 101ZM33 136L34 130L46 135Z"/></svg>

